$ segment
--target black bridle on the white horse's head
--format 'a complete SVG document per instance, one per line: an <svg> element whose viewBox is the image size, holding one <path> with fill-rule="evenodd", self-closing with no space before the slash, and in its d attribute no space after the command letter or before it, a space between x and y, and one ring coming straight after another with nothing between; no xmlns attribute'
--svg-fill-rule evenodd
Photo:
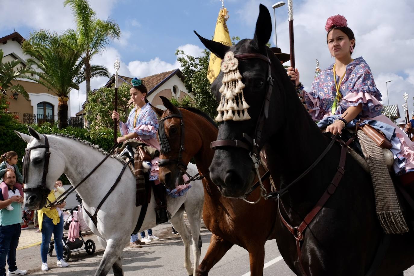
<svg viewBox="0 0 414 276"><path fill-rule="evenodd" d="M24 162L23 162L23 183L27 183L29 181L29 164L30 164L30 152L32 149L40 149L44 148L45 150L45 156L44 156L44 164L43 164L43 175L42 175L42 182L41 185L37 185L33 188L24 188L23 192L40 192L40 194L44 197L48 197L51 190L49 190L46 187L46 176L49 172L49 159L51 153L49 152L50 146L48 142L48 137L46 137L45 134L43 134L43 137L45 138L45 144L44 145L37 145L37 146L31 146L29 148L25 149L24 154ZM42 200L43 200L42 198Z"/></svg>

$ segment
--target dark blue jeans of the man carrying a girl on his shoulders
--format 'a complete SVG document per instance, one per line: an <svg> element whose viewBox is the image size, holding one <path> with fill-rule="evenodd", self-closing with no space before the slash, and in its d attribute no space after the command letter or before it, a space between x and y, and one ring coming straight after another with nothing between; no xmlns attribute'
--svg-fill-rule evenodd
<svg viewBox="0 0 414 276"><path fill-rule="evenodd" d="M16 248L19 245L20 227L20 223L0 226L0 275L6 275L6 257L9 271L17 269Z"/></svg>

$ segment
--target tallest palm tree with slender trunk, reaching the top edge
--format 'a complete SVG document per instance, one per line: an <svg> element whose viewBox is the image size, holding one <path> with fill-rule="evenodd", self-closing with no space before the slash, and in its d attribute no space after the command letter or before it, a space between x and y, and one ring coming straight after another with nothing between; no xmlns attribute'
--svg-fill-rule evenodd
<svg viewBox="0 0 414 276"><path fill-rule="evenodd" d="M81 53L85 67L86 99L88 101L88 93L91 91L90 80L94 77L93 67L90 64L91 58L105 50L113 39L118 39L121 31L115 21L97 19L96 13L91 9L87 0L65 0L64 7L67 5L71 7L75 16L76 30L68 29L65 34Z"/></svg>

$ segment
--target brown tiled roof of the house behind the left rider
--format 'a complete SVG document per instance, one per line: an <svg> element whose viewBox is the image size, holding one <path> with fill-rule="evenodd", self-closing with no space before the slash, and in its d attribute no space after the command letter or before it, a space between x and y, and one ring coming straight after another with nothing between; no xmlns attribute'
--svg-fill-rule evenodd
<svg viewBox="0 0 414 276"><path fill-rule="evenodd" d="M184 76L179 69L170 70L167 72L162 72L159 74L154 74L151 76L143 77L142 80L144 81L145 87L147 87L148 95L154 92L159 86L164 84L168 79L170 79L173 75L177 74L177 76L184 80ZM124 82L131 83L131 77L125 77L118 75L118 78L123 80ZM115 81L115 74L111 76L108 82L105 84L105 87L111 87L111 84Z"/></svg>

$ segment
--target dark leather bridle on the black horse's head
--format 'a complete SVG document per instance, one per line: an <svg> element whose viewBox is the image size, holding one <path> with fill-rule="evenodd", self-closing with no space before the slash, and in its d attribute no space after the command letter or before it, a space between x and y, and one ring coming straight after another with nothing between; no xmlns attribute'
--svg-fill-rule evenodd
<svg viewBox="0 0 414 276"><path fill-rule="evenodd" d="M256 174L258 175L258 182L260 184L261 189L261 197L264 197L266 199L267 191L262 183L262 178L260 177L259 173L259 166L260 166L260 143L262 140L262 132L263 132L263 126L265 125L265 120L269 117L269 106L270 106L270 99L272 98L272 91L273 91L273 77L272 77L272 63L270 62L270 58L267 55L262 55L259 53L244 53L244 54L238 54L234 55L235 58L238 60L247 60L251 58L258 58L261 60L264 60L267 62L267 92L265 95L265 100L262 103L262 108L260 110L259 118L256 123L255 127L255 133L253 138L251 138L247 133L243 133L243 139L245 141L241 140L231 140L231 139L223 139L223 140L216 140L211 142L210 147L214 150L221 149L223 147L233 147L233 148L241 148L246 149L249 151L250 158L253 161L253 169L256 171ZM251 191L248 193L250 194ZM241 199L245 200L248 203L257 203L259 202L260 198L256 202L249 202L246 200L247 195L244 195L241 197Z"/></svg>

